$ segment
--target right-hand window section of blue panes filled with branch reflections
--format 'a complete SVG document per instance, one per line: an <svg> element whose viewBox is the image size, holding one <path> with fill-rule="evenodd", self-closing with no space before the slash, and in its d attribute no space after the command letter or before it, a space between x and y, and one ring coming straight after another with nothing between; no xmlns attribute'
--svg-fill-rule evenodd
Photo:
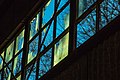
<svg viewBox="0 0 120 80"><path fill-rule="evenodd" d="M97 3L99 7L93 6L94 10L89 13L84 19L80 20L81 16L84 16L84 12L89 12L88 9ZM99 10L98 12L96 10ZM120 14L119 0L79 0L78 6L78 18L80 22L77 24L77 41L76 47L79 47L91 36L93 36L98 29L105 27L110 21L115 19ZM97 17L99 15L99 17ZM78 21L79 21L78 20ZM97 21L99 21L97 23Z"/></svg>

